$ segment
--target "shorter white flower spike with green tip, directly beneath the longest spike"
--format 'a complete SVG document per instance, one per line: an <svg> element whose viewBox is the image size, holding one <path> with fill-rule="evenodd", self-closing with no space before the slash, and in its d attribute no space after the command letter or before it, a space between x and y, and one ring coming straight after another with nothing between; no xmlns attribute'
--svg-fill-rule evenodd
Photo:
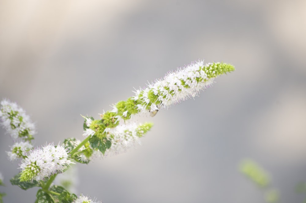
<svg viewBox="0 0 306 203"><path fill-rule="evenodd" d="M139 138L143 137L153 126L152 123L144 124L123 124L115 128L106 128L106 139L110 140L110 149L106 150L107 154L117 155L126 152L127 149L140 144Z"/></svg>

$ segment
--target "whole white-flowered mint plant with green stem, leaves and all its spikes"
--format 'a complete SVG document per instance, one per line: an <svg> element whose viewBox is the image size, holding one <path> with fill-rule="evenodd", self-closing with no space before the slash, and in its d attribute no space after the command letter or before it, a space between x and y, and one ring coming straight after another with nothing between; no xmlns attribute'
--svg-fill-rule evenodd
<svg viewBox="0 0 306 203"><path fill-rule="evenodd" d="M134 96L113 105L113 109L101 114L99 120L83 116L84 140L68 138L60 146L52 143L33 149L31 141L34 139L35 125L16 103L2 100L0 121L15 142L11 151L7 152L9 160L22 158L19 165L21 172L11 179L11 183L22 189L41 187L36 195L37 202L52 199L54 202L100 203L83 195L77 197L70 194L65 188L52 185L52 182L57 174L65 172L73 164L72 160L88 164L93 157L116 155L140 144L140 138L153 124L137 124L131 118L142 113L155 116L159 109L166 109L170 105L195 97L200 90L209 87L216 77L234 70L232 65L224 63L204 65L203 61L192 62L168 73L163 79L155 80L146 88L135 90ZM69 187L73 182L64 179L62 183ZM3 177L0 174L1 184ZM0 202L2 196L0 193Z"/></svg>

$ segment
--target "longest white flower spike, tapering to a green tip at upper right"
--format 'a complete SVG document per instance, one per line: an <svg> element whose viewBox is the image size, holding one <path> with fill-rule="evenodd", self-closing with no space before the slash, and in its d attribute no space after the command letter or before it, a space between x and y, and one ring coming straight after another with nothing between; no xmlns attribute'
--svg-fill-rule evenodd
<svg viewBox="0 0 306 203"><path fill-rule="evenodd" d="M116 118L123 120L128 120L138 113L149 112L150 116L155 116L161 107L168 108L195 97L200 90L211 86L215 78L234 70L232 65L225 63L204 65L200 60L192 62L184 68L166 74L163 79L148 84L147 88L136 90L134 97L119 101L111 112L116 113Z"/></svg>

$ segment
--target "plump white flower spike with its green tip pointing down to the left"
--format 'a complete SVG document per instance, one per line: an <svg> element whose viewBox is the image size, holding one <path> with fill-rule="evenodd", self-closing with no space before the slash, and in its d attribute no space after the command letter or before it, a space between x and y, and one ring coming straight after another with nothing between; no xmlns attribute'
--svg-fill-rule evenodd
<svg viewBox="0 0 306 203"><path fill-rule="evenodd" d="M20 164L21 181L42 180L55 173L63 172L71 161L63 146L54 146L53 143L33 149Z"/></svg>

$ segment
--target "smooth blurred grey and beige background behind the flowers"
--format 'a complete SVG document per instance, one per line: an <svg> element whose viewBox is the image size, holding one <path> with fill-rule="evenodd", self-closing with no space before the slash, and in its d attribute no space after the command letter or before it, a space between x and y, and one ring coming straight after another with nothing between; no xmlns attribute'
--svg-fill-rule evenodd
<svg viewBox="0 0 306 203"><path fill-rule="evenodd" d="M0 98L37 125L35 144L82 138L133 87L205 58L236 71L155 117L142 145L78 168L78 194L117 202L264 202L238 172L251 158L281 202L306 181L306 1L0 1ZM11 186L18 162L0 130L4 202L34 202Z"/></svg>

